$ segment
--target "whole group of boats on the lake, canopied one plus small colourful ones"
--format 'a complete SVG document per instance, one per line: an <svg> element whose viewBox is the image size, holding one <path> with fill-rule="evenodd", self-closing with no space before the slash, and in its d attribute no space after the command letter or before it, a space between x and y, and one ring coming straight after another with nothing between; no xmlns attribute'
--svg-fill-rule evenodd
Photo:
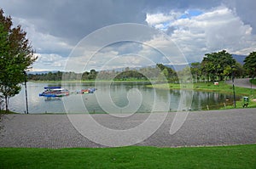
<svg viewBox="0 0 256 169"><path fill-rule="evenodd" d="M95 91L96 91L96 88L87 88L87 89L82 89L76 92L69 92L67 89L62 87L44 87L44 92L39 93L39 96L62 97L62 96L68 96L70 93L88 94L88 93L94 93Z"/></svg>

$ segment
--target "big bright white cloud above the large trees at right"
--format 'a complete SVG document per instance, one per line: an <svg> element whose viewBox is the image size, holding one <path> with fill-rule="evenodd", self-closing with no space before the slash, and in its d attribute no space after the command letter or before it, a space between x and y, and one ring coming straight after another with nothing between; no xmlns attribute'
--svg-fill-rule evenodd
<svg viewBox="0 0 256 169"><path fill-rule="evenodd" d="M164 22L165 24L168 22L168 27L174 30L170 36L189 60L201 61L204 54L222 49L226 49L230 54L249 54L256 48L251 25L246 25L236 15L236 11L224 6L190 18L164 20ZM165 31L166 28L162 29L160 24L160 22L148 23Z"/></svg>

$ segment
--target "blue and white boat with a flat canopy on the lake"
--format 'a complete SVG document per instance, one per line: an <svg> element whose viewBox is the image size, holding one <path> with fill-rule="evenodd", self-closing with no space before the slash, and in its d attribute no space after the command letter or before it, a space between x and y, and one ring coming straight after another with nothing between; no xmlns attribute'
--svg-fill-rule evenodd
<svg viewBox="0 0 256 169"><path fill-rule="evenodd" d="M39 96L44 97L62 97L69 95L69 91L61 87L44 87L44 92L39 93Z"/></svg>

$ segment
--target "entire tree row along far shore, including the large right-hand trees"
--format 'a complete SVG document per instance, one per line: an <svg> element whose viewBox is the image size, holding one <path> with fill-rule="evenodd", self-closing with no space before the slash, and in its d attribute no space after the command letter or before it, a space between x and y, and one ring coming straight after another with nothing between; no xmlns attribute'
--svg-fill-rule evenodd
<svg viewBox="0 0 256 169"><path fill-rule="evenodd" d="M45 74L28 75L32 81L61 81L61 80L154 80L157 82L214 82L230 80L232 73L237 77L255 76L256 74L256 53L253 52L245 59L245 64L233 59L232 55L225 50L218 53L205 54L201 62L195 62L175 71L166 65L157 64L155 66L124 70L90 70L84 73L75 72L49 72Z"/></svg>

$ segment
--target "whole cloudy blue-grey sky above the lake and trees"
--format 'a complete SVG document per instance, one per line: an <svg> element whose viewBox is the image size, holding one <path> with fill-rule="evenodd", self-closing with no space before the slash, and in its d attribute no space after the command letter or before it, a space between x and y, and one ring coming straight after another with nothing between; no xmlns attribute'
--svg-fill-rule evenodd
<svg viewBox="0 0 256 169"><path fill-rule="evenodd" d="M112 70L256 51L255 0L3 0L38 60L32 70ZM129 23L129 24L128 24Z"/></svg>

